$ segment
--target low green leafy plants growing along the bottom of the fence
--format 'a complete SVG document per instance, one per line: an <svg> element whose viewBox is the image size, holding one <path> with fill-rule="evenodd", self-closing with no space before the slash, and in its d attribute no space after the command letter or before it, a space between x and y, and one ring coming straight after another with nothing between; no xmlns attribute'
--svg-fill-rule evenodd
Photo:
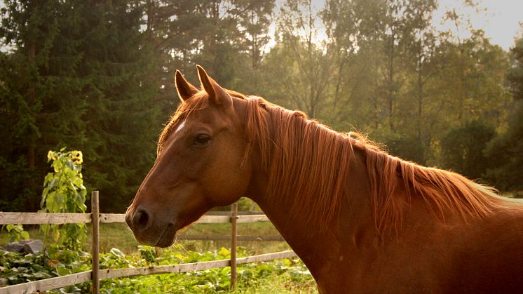
<svg viewBox="0 0 523 294"><path fill-rule="evenodd" d="M205 262L230 258L230 251L219 248L205 253L196 253L181 248L163 250L161 255L154 257L154 248L141 246L137 253L125 255L117 248L109 253L100 254L101 269L126 267L150 267L154 265L176 265L189 262ZM238 256L248 253L245 248L238 248ZM42 253L22 255L0 251L0 279L8 280L9 284L23 283L62 276L90 269L90 256L83 251L71 251L61 246L50 246ZM238 266L238 290L256 288L266 280L285 279L287 287L292 285L308 285L315 289L315 283L304 264L297 259L283 259L271 262L260 262ZM230 287L230 268L208 269L182 274L160 274L138 276L134 278L109 279L101 281L102 293L187 293L201 292L226 293ZM86 293L90 282L77 284L60 289L60 292ZM54 292L54 291L53 291Z"/></svg>

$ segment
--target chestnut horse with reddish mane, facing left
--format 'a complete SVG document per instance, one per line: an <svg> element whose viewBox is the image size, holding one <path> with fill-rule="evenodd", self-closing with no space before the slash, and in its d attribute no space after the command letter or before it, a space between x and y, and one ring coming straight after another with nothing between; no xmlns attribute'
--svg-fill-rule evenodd
<svg viewBox="0 0 523 294"><path fill-rule="evenodd" d="M247 196L321 293L523 292L521 201L198 76L176 72L182 102L125 215L137 241L170 246Z"/></svg>

